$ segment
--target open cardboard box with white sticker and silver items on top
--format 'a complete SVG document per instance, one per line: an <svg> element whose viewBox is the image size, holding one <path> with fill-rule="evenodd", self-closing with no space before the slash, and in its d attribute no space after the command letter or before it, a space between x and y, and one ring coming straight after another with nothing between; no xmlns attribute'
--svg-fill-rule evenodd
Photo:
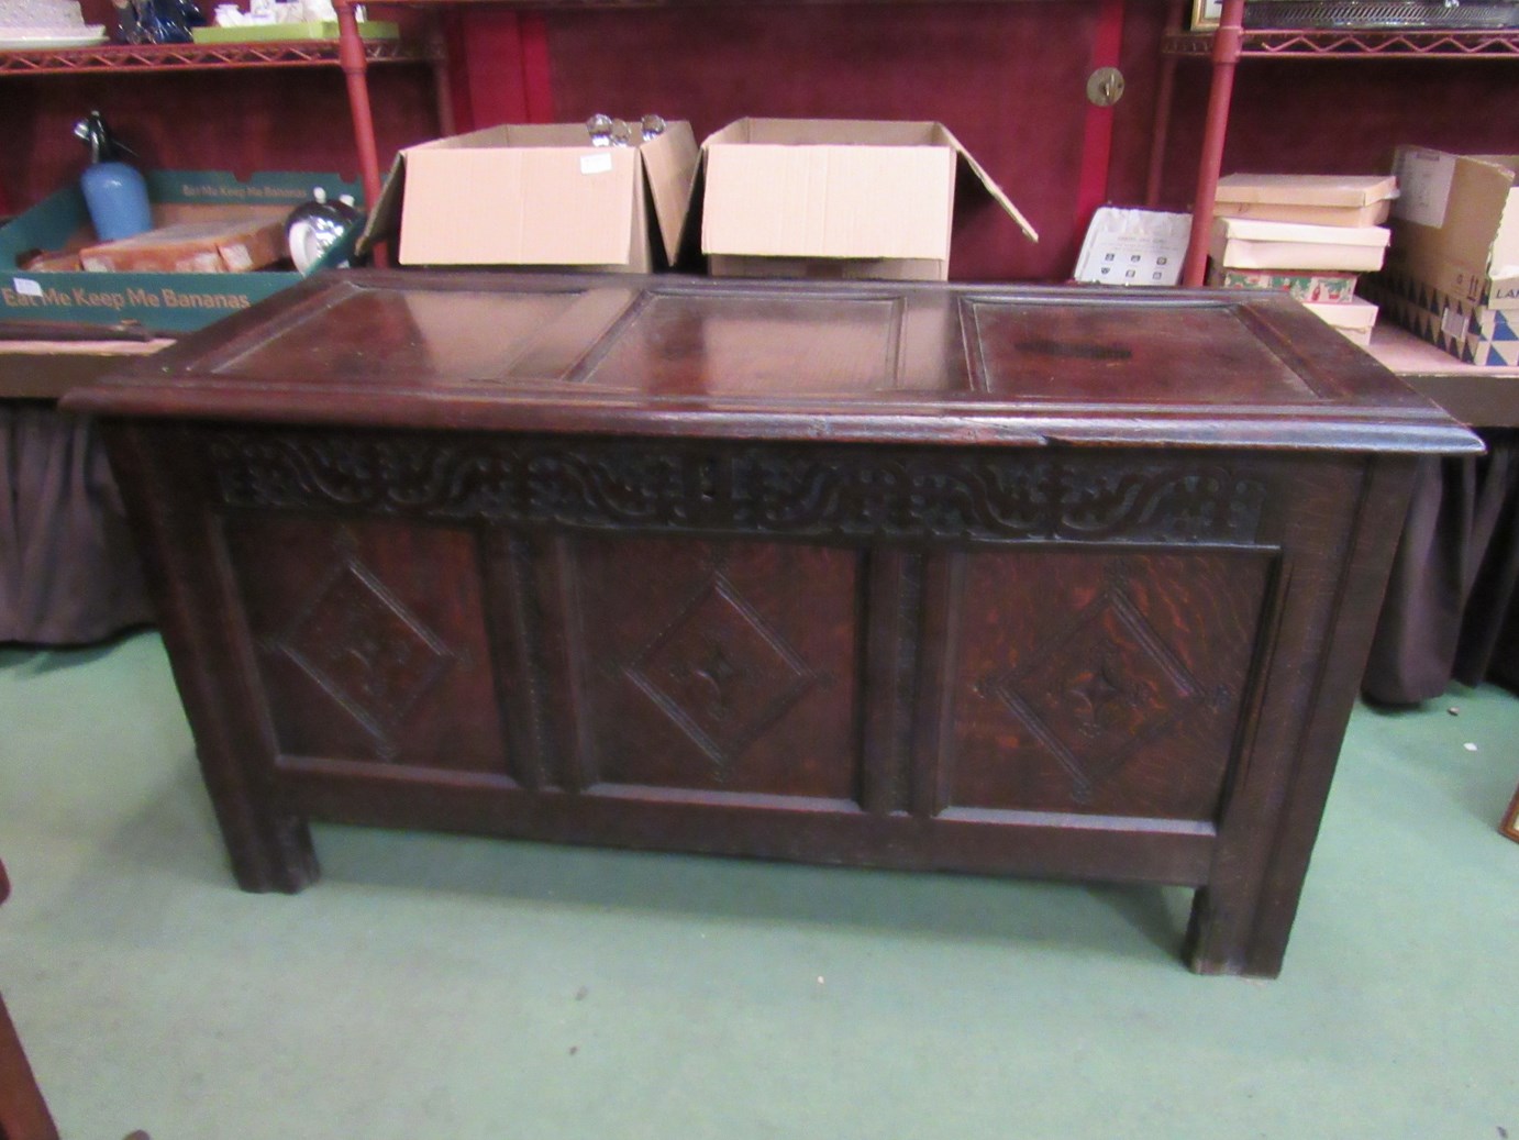
<svg viewBox="0 0 1519 1140"><path fill-rule="evenodd" d="M396 155L363 245L399 234L410 266L644 274L679 252L696 163L682 122L635 146L592 146L583 123L439 138Z"/></svg>

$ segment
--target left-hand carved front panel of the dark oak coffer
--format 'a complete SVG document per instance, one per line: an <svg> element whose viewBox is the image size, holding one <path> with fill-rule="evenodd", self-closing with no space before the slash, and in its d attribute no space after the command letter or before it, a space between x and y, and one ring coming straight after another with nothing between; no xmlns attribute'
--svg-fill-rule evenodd
<svg viewBox="0 0 1519 1140"><path fill-rule="evenodd" d="M283 754L507 772L468 534L232 515L226 538Z"/></svg>

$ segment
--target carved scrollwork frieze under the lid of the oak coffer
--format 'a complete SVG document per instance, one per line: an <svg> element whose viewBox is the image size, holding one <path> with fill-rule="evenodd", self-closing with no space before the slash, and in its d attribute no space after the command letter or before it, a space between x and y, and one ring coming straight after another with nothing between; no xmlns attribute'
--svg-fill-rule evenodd
<svg viewBox="0 0 1519 1140"><path fill-rule="evenodd" d="M222 503L819 540L1253 544L1262 479L1208 456L217 432Z"/></svg>

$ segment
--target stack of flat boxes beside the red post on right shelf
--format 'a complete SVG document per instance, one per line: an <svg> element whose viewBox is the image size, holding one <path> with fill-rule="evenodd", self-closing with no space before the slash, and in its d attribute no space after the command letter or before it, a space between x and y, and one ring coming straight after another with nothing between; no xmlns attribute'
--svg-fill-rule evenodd
<svg viewBox="0 0 1519 1140"><path fill-rule="evenodd" d="M1218 179L1208 283L1291 293L1360 345L1376 306L1356 296L1382 268L1391 175L1229 175Z"/></svg>

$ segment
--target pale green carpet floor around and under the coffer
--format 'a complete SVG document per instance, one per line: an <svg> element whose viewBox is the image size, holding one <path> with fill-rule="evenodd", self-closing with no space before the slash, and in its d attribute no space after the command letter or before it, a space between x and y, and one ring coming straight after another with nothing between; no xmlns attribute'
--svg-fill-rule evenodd
<svg viewBox="0 0 1519 1140"><path fill-rule="evenodd" d="M319 827L260 897L156 635L9 648L0 991L65 1140L1502 1140L1516 783L1502 690L1358 708L1276 982L1150 888Z"/></svg>

